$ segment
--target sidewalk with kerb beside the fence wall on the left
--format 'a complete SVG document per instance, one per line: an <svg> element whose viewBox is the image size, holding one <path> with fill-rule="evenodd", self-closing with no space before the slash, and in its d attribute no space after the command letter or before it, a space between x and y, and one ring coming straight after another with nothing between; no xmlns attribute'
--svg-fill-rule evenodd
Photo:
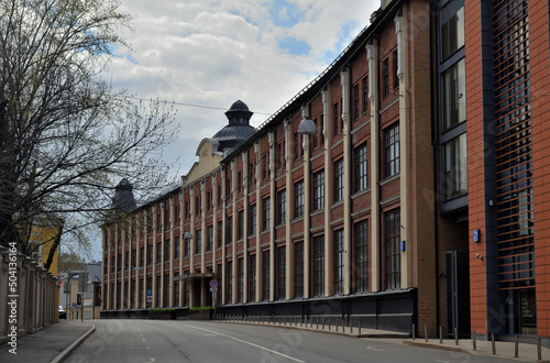
<svg viewBox="0 0 550 363"><path fill-rule="evenodd" d="M16 355L8 344L0 345L0 362L63 362L96 327L87 321L61 320L34 334L18 338Z"/></svg>

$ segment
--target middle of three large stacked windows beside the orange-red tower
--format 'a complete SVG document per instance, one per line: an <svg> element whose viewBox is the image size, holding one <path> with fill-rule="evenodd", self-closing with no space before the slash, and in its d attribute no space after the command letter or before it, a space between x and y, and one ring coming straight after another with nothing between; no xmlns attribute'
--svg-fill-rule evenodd
<svg viewBox="0 0 550 363"><path fill-rule="evenodd" d="M466 121L466 76L464 58L441 74L443 132Z"/></svg>

